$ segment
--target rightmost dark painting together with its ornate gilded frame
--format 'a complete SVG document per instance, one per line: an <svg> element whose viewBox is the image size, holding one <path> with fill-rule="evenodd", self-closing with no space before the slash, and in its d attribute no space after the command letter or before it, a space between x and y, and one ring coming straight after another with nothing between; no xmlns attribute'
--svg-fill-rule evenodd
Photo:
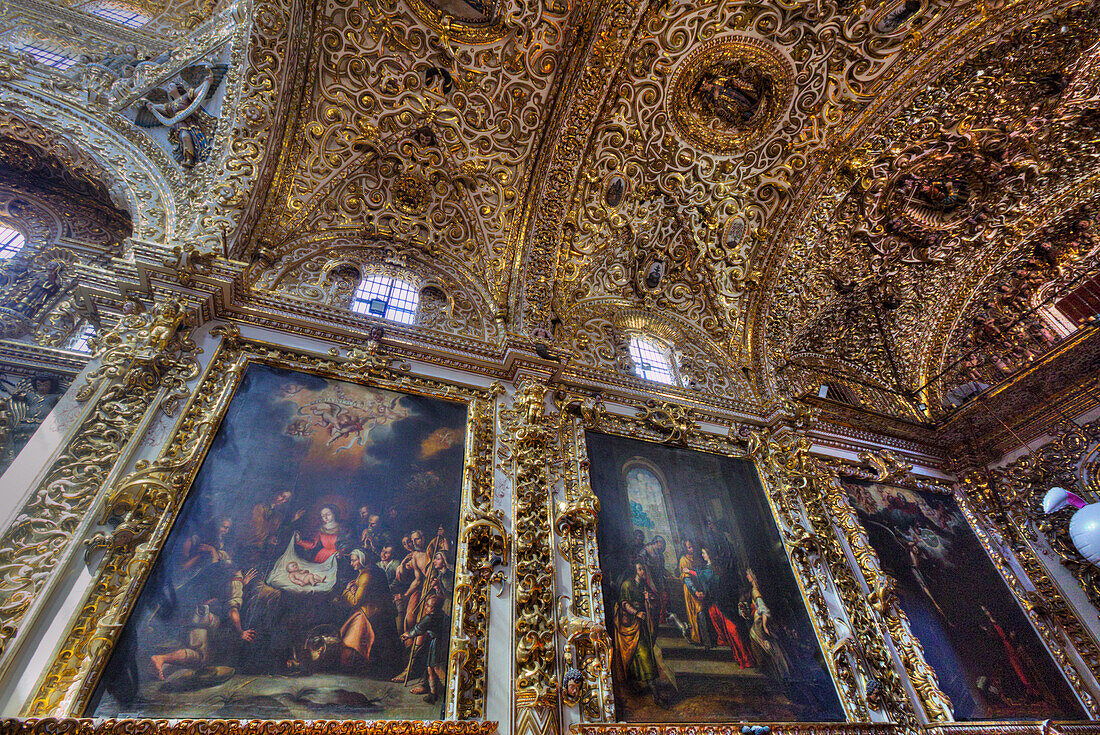
<svg viewBox="0 0 1100 735"><path fill-rule="evenodd" d="M937 718L969 721L1096 717L1096 700L1072 662L1060 623L1033 604L1016 566L1000 551L968 498L914 478L908 465L876 467L876 456L868 459L871 472L833 468L837 476L826 480L832 484L826 494L888 625L893 624L895 645L920 657L923 671L914 681L921 684L925 709ZM889 527L879 523L883 513L895 516ZM952 546L965 547L971 579L948 589L945 575L960 567L950 558ZM981 600L974 589L981 590ZM974 603L974 615L947 624L944 606L963 602L965 608L965 601ZM966 626L972 629L954 629ZM967 639L977 646L978 637L989 644L980 656L956 650ZM974 671L975 661L1003 665L1004 670ZM1037 688L1036 677L1046 683ZM964 690L969 694L960 694ZM955 699L981 703L959 711L952 692ZM1047 709L1044 701L1050 702Z"/></svg>

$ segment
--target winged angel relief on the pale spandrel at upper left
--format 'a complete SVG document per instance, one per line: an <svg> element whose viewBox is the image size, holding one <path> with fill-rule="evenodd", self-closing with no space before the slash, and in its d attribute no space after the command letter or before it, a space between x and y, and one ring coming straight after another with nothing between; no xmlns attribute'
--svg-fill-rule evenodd
<svg viewBox="0 0 1100 735"><path fill-rule="evenodd" d="M173 155L191 168L206 158L218 119L202 105L213 97L229 67L226 64L195 64L179 73L182 81L151 89L138 102L134 123L141 128L168 129Z"/></svg>

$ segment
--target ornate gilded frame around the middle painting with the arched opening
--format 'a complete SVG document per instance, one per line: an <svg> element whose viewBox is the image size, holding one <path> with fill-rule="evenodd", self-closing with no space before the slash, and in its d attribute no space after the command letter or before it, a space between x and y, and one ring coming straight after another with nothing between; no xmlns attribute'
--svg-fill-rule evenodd
<svg viewBox="0 0 1100 735"><path fill-rule="evenodd" d="M556 541L559 552L569 561L572 588L559 625L564 638L561 699L565 706L579 707L581 723L614 723L617 718L612 687L612 669L616 665L615 621L607 623L604 600L606 572L601 567L596 542L601 501L593 492L590 474L594 464L588 454L590 436L629 438L652 446L663 445L661 449L676 447L703 452L714 456L717 461L740 459L748 462L748 470L759 475L765 507L779 530L778 549L793 574L799 602L805 606L813 645L822 651L820 660L829 689L835 688L834 696L839 700L836 716L866 718L869 710L882 709L881 703L868 703L866 691L857 680L857 672L867 676L866 661L845 655L843 644L847 627L836 621L832 612L835 603L826 596L836 599L832 570L823 555L806 548L801 501L793 492L793 483L784 482L773 471L778 460L769 452L778 456L778 445L772 442L769 449L765 446L768 442L757 436L704 434L690 409L656 402L630 416L605 410L597 398L562 395L559 408L557 441L561 464L558 469L562 484L556 512ZM642 467L640 462L636 464ZM679 549L676 551L679 553ZM751 612L755 608L743 607L751 615L746 622L755 622L758 617ZM748 635L751 636L751 630ZM749 713L745 716L752 717ZM738 718L744 717L729 716L730 721ZM609 726L629 728L632 725Z"/></svg>

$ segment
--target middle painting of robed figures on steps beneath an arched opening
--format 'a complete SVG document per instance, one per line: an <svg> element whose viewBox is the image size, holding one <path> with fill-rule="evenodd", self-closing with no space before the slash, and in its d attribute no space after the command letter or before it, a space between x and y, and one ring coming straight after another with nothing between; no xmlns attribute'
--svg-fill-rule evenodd
<svg viewBox="0 0 1100 735"><path fill-rule="evenodd" d="M619 720L844 720L756 468L587 435Z"/></svg>

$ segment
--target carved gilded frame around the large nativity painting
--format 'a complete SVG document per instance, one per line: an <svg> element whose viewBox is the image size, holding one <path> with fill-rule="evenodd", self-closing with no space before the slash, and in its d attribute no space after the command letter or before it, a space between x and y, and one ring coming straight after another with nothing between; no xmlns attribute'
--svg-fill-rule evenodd
<svg viewBox="0 0 1100 735"><path fill-rule="evenodd" d="M162 329L156 328L156 319L151 321L153 327L144 330L150 339L154 343L172 344L175 338L172 329L165 327L163 320ZM498 567L509 561L512 544L503 515L492 508L493 416L487 394L410 375L364 376L354 361L330 360L252 342L242 338L233 325L218 325L211 332L223 339L207 369L206 379L197 386L161 457L139 464L113 485L106 498L105 519L119 523L113 531L92 541L94 546L105 548L107 555L96 570L61 652L47 667L24 715L79 712L87 703L245 366L260 361L339 380L367 380L372 385L389 390L466 402L466 471L455 569L457 612L451 630L455 644L449 673L453 688L447 714L452 718L484 716L488 590L493 581L501 579ZM131 372L144 370L139 363ZM107 390L128 384L125 375L120 375ZM136 384L141 390L152 390L145 382ZM143 407L146 405L147 402ZM13 561L34 564L36 559L24 551Z"/></svg>

